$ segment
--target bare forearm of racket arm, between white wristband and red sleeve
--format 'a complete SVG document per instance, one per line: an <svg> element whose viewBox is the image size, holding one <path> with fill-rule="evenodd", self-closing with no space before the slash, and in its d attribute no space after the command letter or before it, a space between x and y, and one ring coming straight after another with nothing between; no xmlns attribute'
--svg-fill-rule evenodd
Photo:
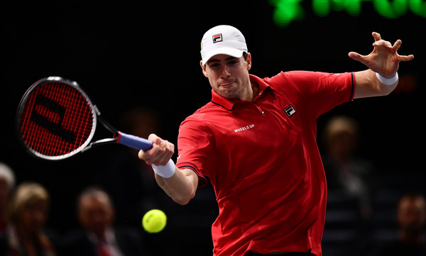
<svg viewBox="0 0 426 256"><path fill-rule="evenodd" d="M158 185L178 204L187 204L194 196L198 186L198 177L191 169L178 169L170 178L155 174Z"/></svg>

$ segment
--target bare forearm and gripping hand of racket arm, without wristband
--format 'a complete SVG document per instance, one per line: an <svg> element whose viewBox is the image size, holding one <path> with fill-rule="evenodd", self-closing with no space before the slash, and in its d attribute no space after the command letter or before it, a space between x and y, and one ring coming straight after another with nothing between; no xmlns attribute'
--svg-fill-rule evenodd
<svg viewBox="0 0 426 256"><path fill-rule="evenodd" d="M175 145L162 140L155 134L151 134L148 140L153 141L153 148L148 151L139 151L138 157L148 165L167 165L175 152ZM198 186L198 176L192 169L178 169L178 167L175 167L173 176L165 178L155 174L155 180L178 204L187 204L195 196Z"/></svg>

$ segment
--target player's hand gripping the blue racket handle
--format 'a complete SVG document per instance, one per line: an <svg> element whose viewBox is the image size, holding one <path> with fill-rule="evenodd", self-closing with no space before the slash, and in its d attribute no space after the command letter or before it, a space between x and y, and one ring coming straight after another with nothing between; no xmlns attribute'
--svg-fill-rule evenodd
<svg viewBox="0 0 426 256"><path fill-rule="evenodd" d="M153 142L153 148L147 151L140 150L138 153L139 159L145 161L147 165L167 165L175 153L175 145L153 133L149 135L148 140Z"/></svg>

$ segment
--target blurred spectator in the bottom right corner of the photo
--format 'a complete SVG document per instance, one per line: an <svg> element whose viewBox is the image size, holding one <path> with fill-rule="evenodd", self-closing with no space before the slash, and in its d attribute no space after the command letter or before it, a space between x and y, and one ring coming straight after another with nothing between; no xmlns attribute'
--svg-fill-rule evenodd
<svg viewBox="0 0 426 256"><path fill-rule="evenodd" d="M397 207L398 240L378 252L378 256L425 256L426 201L419 193L403 195Z"/></svg>

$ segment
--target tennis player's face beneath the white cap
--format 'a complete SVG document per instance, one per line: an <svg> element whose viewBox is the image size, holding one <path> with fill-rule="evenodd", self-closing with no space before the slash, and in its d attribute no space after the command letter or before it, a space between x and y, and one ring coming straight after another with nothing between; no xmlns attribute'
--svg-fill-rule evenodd
<svg viewBox="0 0 426 256"><path fill-rule="evenodd" d="M209 83L220 96L228 99L251 100L251 84L249 70L251 56L232 57L229 55L214 55L202 71Z"/></svg>

